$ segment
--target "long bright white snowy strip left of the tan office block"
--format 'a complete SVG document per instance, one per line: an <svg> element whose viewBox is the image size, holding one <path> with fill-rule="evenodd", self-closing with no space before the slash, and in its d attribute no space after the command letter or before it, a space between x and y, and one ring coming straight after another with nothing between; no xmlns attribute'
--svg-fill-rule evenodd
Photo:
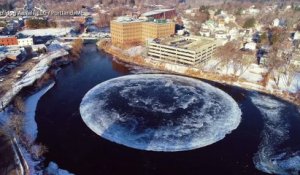
<svg viewBox="0 0 300 175"><path fill-rule="evenodd" d="M26 29L19 33L26 36L64 36L70 33L72 28L46 28L46 29Z"/></svg>

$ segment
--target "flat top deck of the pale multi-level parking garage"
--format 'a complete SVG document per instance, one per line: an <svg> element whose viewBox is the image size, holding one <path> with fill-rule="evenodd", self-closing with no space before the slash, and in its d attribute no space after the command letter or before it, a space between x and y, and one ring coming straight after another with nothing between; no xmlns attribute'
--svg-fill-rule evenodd
<svg viewBox="0 0 300 175"><path fill-rule="evenodd" d="M175 36L175 37L168 37L163 40L156 40L155 42L157 44L167 45L171 47L198 51L201 50L203 46L213 43L214 40L209 38L198 37L198 36L189 36L189 37Z"/></svg>

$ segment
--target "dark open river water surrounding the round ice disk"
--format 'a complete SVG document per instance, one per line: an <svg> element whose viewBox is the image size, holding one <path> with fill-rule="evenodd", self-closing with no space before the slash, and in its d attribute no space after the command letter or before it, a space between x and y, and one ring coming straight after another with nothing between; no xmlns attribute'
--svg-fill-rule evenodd
<svg viewBox="0 0 300 175"><path fill-rule="evenodd" d="M261 108L254 105L253 99L250 98L256 93L212 82L209 83L232 96L243 113L239 127L217 143L191 151L149 152L118 145L92 132L82 121L79 113L79 105L84 95L101 82L142 70L113 61L110 55L98 52L95 45L86 45L81 59L58 73L55 86L38 103L37 141L49 149L45 155L45 164L53 161L60 168L79 175L259 175L264 173L255 167L254 156L260 150L260 146L271 147L272 153L266 153L268 156L277 154L274 147L289 154L291 152L298 154L300 117L296 107L288 105L286 110L292 111L292 114L286 112L285 116L291 116L292 124L288 126L286 135L278 136L279 141L275 140L280 145L274 143L272 145L270 138L262 134L263 131L268 131L264 129L268 128L265 121L271 122L271 126L278 127L281 123L272 125L268 112L263 117ZM260 94L256 96L260 97ZM271 100L273 99L272 97ZM263 106L264 103L260 105ZM286 128L282 128L284 129ZM276 133L272 136L277 137ZM285 137L289 139L281 139ZM288 149L281 149L282 147Z"/></svg>

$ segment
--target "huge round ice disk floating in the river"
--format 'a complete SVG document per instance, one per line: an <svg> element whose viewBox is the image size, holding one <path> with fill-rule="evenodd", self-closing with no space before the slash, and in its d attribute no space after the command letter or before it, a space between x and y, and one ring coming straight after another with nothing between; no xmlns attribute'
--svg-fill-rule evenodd
<svg viewBox="0 0 300 175"><path fill-rule="evenodd" d="M236 129L238 104L202 81L175 75L128 75L100 83L80 104L86 125L131 148L186 151L213 144Z"/></svg>

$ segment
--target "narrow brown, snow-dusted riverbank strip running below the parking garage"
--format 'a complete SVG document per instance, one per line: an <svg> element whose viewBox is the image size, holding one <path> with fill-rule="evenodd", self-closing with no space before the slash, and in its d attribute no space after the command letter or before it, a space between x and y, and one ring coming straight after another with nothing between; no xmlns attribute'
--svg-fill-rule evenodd
<svg viewBox="0 0 300 175"><path fill-rule="evenodd" d="M130 53L130 50L127 50L127 52L125 52L123 49L112 46L109 43L109 41L106 43L99 42L97 45L99 49L103 50L108 54L111 54L113 57L116 57L120 61L128 64L135 64L138 66L156 69L160 71L170 72L193 78L210 80L230 86L244 88L247 90L254 90L261 93L274 95L283 100L289 101L295 105L300 106L300 98L297 96L296 93L291 93L289 91L281 90L279 88L274 88L270 85L264 85L263 81L253 83L247 81L247 79L245 78L241 78L235 75L222 74L218 72L208 72L195 67L188 67L184 65L155 61L151 58L143 56L142 54L133 55Z"/></svg>

